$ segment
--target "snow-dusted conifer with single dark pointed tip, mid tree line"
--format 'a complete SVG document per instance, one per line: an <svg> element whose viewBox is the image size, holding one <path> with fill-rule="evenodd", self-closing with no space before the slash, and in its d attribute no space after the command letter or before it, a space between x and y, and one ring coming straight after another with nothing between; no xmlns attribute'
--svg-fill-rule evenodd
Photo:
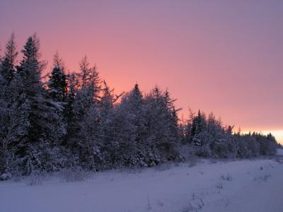
<svg viewBox="0 0 283 212"><path fill-rule="evenodd" d="M144 166L145 152L144 98L138 84L126 93L115 114L115 140L119 143L117 154L126 167Z"/></svg>

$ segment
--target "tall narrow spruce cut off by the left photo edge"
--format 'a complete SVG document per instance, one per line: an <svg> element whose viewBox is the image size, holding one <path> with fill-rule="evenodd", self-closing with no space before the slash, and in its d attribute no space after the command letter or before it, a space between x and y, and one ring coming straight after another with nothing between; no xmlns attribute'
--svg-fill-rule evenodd
<svg viewBox="0 0 283 212"><path fill-rule="evenodd" d="M12 83L15 78L15 63L18 52L16 51L15 35L12 34L6 45L4 58L0 59L0 175L2 179L10 176L11 171L11 144L14 141L13 134L16 134L16 128L13 128L14 119L13 101L16 90L13 90ZM21 124L25 124L24 122Z"/></svg>

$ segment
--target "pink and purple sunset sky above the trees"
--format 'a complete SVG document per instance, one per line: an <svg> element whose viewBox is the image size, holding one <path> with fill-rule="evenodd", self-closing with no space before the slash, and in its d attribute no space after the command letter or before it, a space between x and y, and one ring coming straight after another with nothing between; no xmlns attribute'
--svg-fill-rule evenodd
<svg viewBox="0 0 283 212"><path fill-rule="evenodd" d="M180 117L214 112L283 143L283 1L0 1L1 55L33 33L42 59L87 55L117 93L168 88ZM20 59L20 58L18 58Z"/></svg>

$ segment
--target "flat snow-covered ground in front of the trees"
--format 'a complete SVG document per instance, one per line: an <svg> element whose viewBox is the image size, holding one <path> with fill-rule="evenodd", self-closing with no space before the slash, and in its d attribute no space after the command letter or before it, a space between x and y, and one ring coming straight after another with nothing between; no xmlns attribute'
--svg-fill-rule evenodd
<svg viewBox="0 0 283 212"><path fill-rule="evenodd" d="M83 182L29 180L0 182L1 212L283 211L280 155L98 172Z"/></svg>

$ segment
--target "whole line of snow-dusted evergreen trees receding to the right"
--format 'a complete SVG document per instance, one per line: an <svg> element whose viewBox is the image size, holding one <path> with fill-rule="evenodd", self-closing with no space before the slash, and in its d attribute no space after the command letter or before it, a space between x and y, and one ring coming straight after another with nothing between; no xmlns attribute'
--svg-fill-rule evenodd
<svg viewBox="0 0 283 212"><path fill-rule="evenodd" d="M271 134L233 133L214 114L180 123L168 90L115 95L86 57L67 73L54 55L47 80L36 35L18 52L12 34L0 61L0 178L62 168L151 167L166 161L275 154Z"/></svg>

